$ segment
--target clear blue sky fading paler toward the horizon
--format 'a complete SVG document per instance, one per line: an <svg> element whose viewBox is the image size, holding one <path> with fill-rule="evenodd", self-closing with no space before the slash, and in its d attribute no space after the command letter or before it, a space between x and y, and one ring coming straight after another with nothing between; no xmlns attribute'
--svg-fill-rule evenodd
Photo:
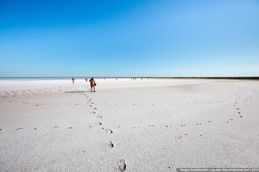
<svg viewBox="0 0 259 172"><path fill-rule="evenodd" d="M3 1L0 77L259 76L259 1Z"/></svg>

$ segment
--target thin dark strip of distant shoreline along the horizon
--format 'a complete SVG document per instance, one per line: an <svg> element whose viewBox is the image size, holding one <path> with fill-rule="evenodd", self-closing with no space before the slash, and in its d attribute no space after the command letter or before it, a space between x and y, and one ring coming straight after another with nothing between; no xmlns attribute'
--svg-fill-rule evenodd
<svg viewBox="0 0 259 172"><path fill-rule="evenodd" d="M0 77L0 78L73 78L73 77ZM85 78L85 77L74 77L74 78ZM91 78L91 77L87 77ZM104 78L104 77L94 77ZM132 77L105 77L105 78L132 78ZM141 77L136 77L141 78ZM147 77L143 77L147 78ZM156 79L157 77L148 77L150 79ZM259 80L259 77L158 77L159 79L249 79Z"/></svg>

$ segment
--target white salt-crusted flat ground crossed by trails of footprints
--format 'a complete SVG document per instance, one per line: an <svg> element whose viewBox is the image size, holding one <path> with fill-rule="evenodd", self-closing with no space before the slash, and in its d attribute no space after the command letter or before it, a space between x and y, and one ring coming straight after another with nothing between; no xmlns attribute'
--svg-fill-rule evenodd
<svg viewBox="0 0 259 172"><path fill-rule="evenodd" d="M259 81L96 81L0 81L0 171L259 166Z"/></svg>

